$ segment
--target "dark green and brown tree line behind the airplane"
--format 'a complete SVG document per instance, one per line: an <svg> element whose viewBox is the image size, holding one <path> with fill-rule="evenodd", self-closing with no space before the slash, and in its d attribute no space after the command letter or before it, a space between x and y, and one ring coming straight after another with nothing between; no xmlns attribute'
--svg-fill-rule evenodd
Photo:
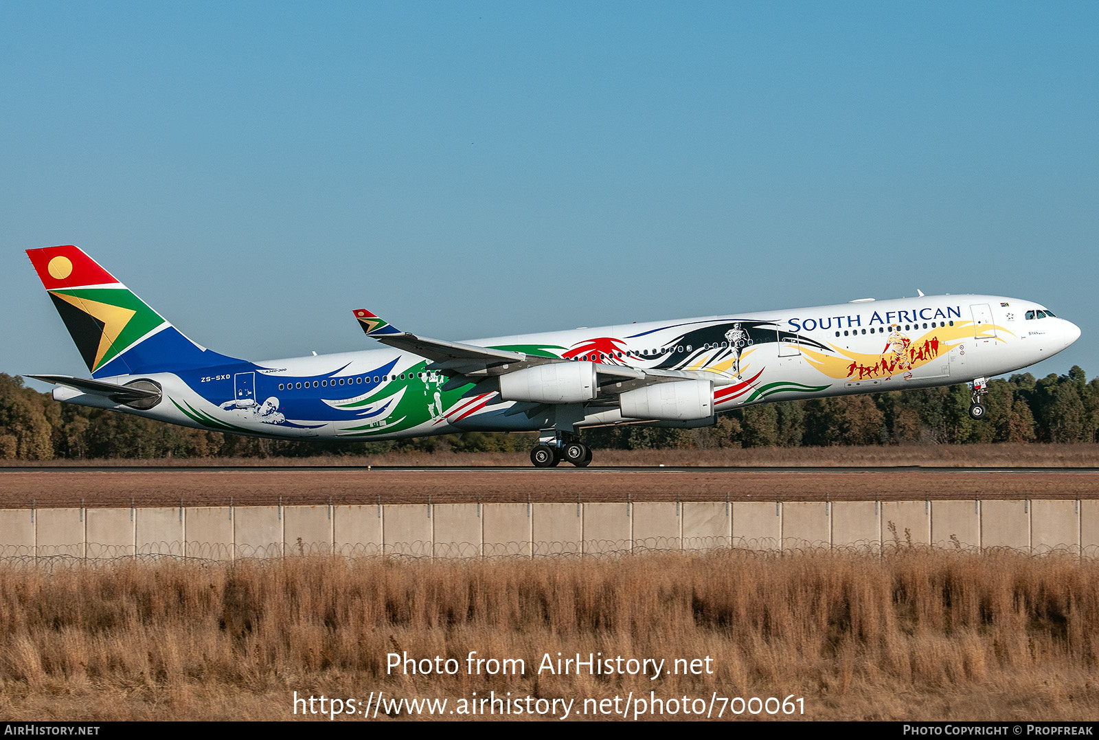
<svg viewBox="0 0 1099 740"><path fill-rule="evenodd" d="M1074 366L1067 375L1030 373L988 384L986 419L969 418L966 385L891 390L751 406L721 415L715 427L607 427L584 432L593 448L644 450L840 444L1095 442L1099 378ZM59 404L0 373L0 460L97 457L296 457L324 454L526 452L530 434L470 432L388 442L296 442L189 429Z"/></svg>

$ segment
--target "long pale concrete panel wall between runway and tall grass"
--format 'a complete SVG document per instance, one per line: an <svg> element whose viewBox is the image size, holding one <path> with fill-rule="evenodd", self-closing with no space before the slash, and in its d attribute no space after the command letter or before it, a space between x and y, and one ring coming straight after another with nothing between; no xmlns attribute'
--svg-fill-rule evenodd
<svg viewBox="0 0 1099 740"><path fill-rule="evenodd" d="M0 510L0 556L584 555L931 545L1099 556L1099 500L437 504Z"/></svg>

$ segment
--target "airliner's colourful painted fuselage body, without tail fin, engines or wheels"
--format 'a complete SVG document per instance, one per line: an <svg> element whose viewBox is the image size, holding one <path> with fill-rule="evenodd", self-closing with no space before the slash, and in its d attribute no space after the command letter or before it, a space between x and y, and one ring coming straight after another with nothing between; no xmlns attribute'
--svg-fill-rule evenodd
<svg viewBox="0 0 1099 740"><path fill-rule="evenodd" d="M54 395L170 423L282 439L537 431L562 428L565 406L576 429L646 421L689 427L712 423L713 417L623 416L618 399L644 383L604 371L710 378L717 413L766 401L968 383L1051 357L1078 336L1076 325L1032 301L924 296L466 342L592 363L598 393L582 404L504 400L497 386L475 385L478 377L456 384L455 373L440 363L389 346L258 363L224 357L230 362L97 376L119 385L155 383L163 398L148 409L71 387Z"/></svg>

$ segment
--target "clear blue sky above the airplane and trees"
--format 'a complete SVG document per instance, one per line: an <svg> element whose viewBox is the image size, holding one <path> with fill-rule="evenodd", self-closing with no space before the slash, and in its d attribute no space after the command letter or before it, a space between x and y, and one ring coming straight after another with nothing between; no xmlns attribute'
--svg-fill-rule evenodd
<svg viewBox="0 0 1099 740"><path fill-rule="evenodd" d="M254 360L978 292L1099 375L1099 4L0 4L0 372L78 244ZM36 385L44 389L46 386Z"/></svg>

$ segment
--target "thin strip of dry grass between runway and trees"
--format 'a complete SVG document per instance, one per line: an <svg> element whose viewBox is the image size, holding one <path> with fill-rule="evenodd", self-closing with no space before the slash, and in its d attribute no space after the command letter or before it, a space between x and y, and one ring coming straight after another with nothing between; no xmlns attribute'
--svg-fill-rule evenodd
<svg viewBox="0 0 1099 740"><path fill-rule="evenodd" d="M596 465L615 466L787 466L809 467L929 465L953 467L1099 467L1096 444L931 444L834 448L728 448L718 450L598 450ZM530 466L525 452L387 452L319 457L191 457L169 460L0 461L0 467L87 466L310 466L395 465Z"/></svg>

